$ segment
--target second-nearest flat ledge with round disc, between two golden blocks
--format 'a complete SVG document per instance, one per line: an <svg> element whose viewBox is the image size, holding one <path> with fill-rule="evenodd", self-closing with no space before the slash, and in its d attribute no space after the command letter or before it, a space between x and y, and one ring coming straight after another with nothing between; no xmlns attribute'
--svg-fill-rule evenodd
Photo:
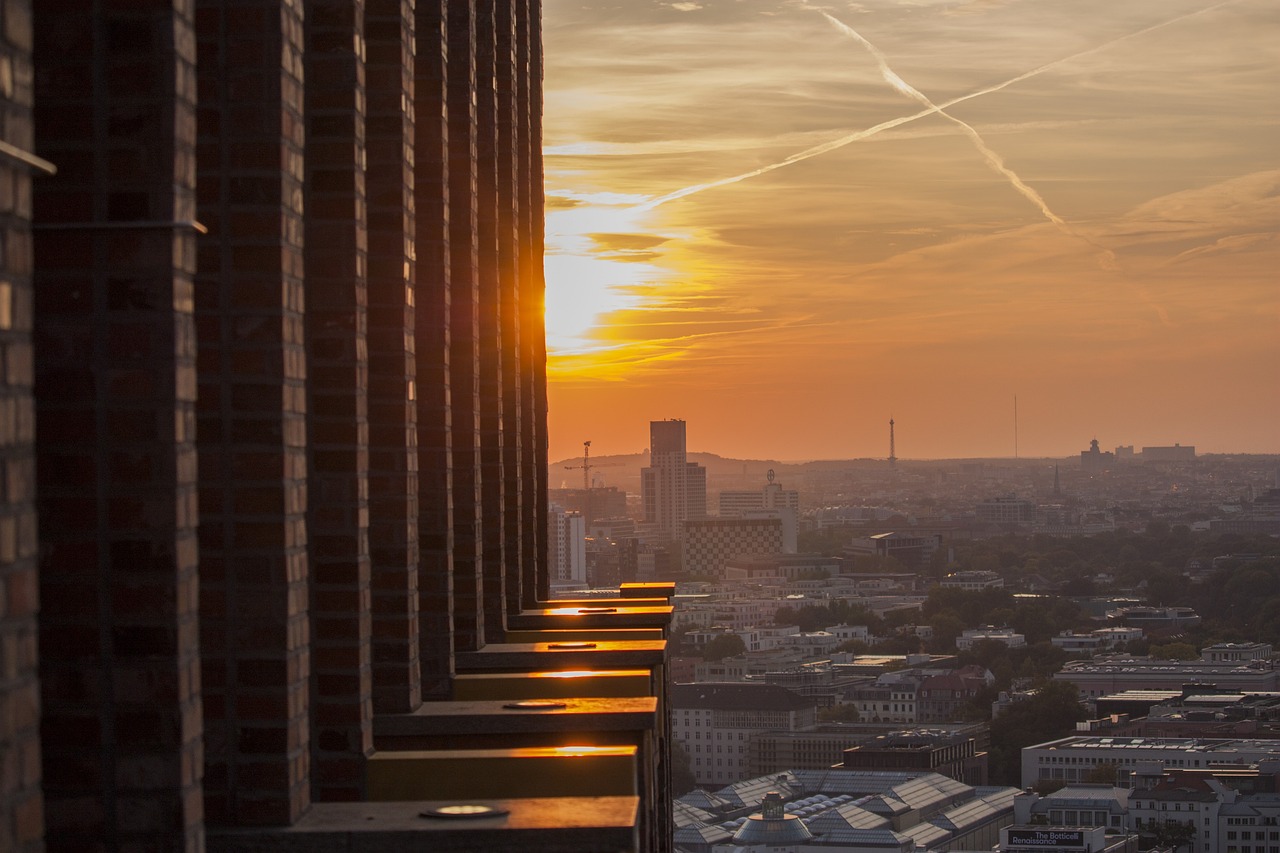
<svg viewBox="0 0 1280 853"><path fill-rule="evenodd" d="M520 706L520 707L513 707ZM374 747L383 749L636 743L658 725L658 699L564 698L526 701L431 702L412 713L374 717ZM611 736L612 735L612 736Z"/></svg>

